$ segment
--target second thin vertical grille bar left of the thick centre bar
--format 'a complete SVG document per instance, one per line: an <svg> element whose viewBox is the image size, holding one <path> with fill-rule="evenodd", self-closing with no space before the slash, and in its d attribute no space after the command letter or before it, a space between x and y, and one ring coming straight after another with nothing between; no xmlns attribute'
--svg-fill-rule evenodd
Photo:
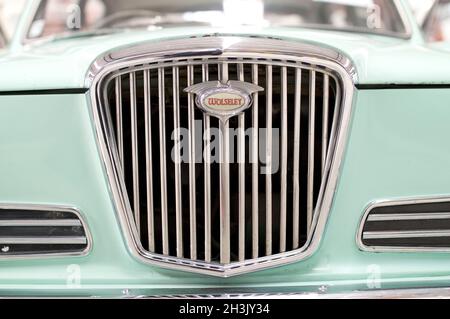
<svg viewBox="0 0 450 319"><path fill-rule="evenodd" d="M194 66L187 67L187 85L194 84ZM191 259L197 259L197 215L195 200L195 103L194 95L189 94L189 210L190 210L190 235L191 235Z"/></svg>

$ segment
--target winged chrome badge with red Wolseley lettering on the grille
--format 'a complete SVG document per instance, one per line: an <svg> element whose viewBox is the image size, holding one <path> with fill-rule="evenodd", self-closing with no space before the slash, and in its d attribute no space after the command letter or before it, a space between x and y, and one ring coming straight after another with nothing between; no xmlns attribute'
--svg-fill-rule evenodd
<svg viewBox="0 0 450 319"><path fill-rule="evenodd" d="M184 90L196 94L195 102L205 113L223 122L228 121L252 106L252 94L264 89L242 81L209 81L190 86Z"/></svg>

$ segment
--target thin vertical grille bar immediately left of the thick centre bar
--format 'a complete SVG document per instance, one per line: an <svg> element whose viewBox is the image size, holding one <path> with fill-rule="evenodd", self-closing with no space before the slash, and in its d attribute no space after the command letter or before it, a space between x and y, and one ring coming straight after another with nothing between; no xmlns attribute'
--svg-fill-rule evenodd
<svg viewBox="0 0 450 319"><path fill-rule="evenodd" d="M202 80L209 81L209 64L202 65ZM205 178L205 261L211 262L211 119L208 114L203 114L205 154L204 154L204 178Z"/></svg>

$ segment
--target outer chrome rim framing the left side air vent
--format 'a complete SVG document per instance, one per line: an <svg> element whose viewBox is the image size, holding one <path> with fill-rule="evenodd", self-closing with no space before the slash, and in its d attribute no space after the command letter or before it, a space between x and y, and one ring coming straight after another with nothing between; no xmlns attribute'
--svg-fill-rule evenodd
<svg viewBox="0 0 450 319"><path fill-rule="evenodd" d="M17 254L17 255L0 255L0 262L4 260L23 260L23 259L43 259L43 258L63 258L63 257L84 257L87 256L93 247L92 235L87 226L83 214L74 207L62 206L62 205L51 205L51 204L11 204L11 203L0 203L0 213L1 210L25 210L25 211L36 211L36 212L47 212L47 211L57 211L57 212L68 212L77 216L84 229L86 238L86 248L80 252L71 253L46 253L46 254ZM84 243L83 243L84 244Z"/></svg>

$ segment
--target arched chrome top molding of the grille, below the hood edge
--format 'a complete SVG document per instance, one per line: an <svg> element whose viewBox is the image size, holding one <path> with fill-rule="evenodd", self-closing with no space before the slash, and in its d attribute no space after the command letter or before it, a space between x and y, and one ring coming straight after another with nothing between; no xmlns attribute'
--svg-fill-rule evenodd
<svg viewBox="0 0 450 319"><path fill-rule="evenodd" d="M164 44L160 41L149 42L139 46L115 50L100 57L91 65L86 76L85 85L92 88L98 82L99 76L104 74L105 70L110 70L112 65L114 65L114 69L120 69L129 65L148 63L151 60L187 59L199 55L220 57L226 56L229 52L241 54L243 57L248 57L248 53L253 54L256 58L273 59L276 56L278 60L285 61L298 61L302 60L303 57L308 59L317 58L319 59L317 62L326 60L333 64L339 64L345 69L347 75L351 77L353 83L358 82L358 74L351 60L341 52L326 47L295 40L211 35L169 40L165 41Z"/></svg>

